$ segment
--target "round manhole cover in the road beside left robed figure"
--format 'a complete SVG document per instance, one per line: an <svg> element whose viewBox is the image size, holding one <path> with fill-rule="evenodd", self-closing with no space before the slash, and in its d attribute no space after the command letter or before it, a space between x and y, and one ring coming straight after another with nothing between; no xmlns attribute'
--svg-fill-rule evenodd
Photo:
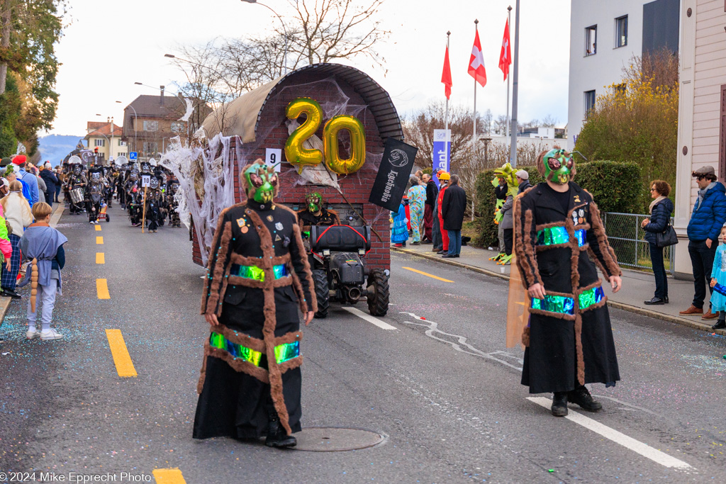
<svg viewBox="0 0 726 484"><path fill-rule="evenodd" d="M295 434L298 445L296 451L340 452L367 448L386 440L378 432L343 427L307 427Z"/></svg>

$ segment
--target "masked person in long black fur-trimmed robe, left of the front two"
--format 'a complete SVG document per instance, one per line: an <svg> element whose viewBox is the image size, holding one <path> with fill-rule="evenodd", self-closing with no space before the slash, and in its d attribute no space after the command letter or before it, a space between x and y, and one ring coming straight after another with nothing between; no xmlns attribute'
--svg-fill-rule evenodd
<svg viewBox="0 0 726 484"><path fill-rule="evenodd" d="M293 210L276 205L277 174L262 160L242 168L248 200L219 216L202 311L211 324L194 438L259 438L295 446L301 430L300 319L317 311Z"/></svg>

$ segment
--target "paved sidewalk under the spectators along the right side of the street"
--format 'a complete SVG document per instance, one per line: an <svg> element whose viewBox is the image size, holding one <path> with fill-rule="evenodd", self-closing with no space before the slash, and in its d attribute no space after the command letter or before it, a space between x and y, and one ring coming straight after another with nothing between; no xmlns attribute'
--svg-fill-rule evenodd
<svg viewBox="0 0 726 484"><path fill-rule="evenodd" d="M418 255L440 263L467 268L481 274L509 280L511 266L497 266L493 261L489 261L490 257L497 255L497 252L494 250L464 246L461 248L460 258L444 259L441 258L441 255L433 253L431 247L431 244L412 246L409 242L407 247L391 247L391 250ZM711 329L711 326L716 322L715 320L703 321L701 315L688 317L678 314L679 311L688 308L693 301L693 282L669 278L668 294L670 303L664 305L645 305L643 303L643 301L652 298L653 292L656 290L655 279L653 278L653 274L649 272L624 270L623 287L617 294L613 294L610 284L605 281L603 281L603 290L608 295L608 305L613 308L624 309L625 311L642 314L643 316L671 321L693 329L700 329L701 331L711 333L715 332L719 335L726 336L724 329ZM707 304L708 302L706 302Z"/></svg>

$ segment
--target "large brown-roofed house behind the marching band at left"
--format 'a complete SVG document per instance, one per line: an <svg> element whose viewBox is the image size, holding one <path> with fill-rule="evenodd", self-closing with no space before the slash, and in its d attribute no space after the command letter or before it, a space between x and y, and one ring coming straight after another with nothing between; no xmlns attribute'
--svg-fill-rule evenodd
<svg viewBox="0 0 726 484"><path fill-rule="evenodd" d="M194 113L189 122L179 120L187 110L185 100L176 96L165 96L160 86L158 96L139 96L123 110L123 139L129 144L129 151L137 152L139 160L149 160L164 152L174 136L186 139L194 134L201 120L211 112L208 104L196 99Z"/></svg>

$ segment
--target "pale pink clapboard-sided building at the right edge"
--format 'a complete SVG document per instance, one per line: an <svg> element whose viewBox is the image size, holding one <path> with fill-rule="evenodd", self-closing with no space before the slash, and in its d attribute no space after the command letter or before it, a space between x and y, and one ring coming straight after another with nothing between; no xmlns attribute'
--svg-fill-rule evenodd
<svg viewBox="0 0 726 484"><path fill-rule="evenodd" d="M686 228L698 187L691 176L706 165L726 177L726 2L682 0L680 102L674 228L677 276L692 277Z"/></svg>

